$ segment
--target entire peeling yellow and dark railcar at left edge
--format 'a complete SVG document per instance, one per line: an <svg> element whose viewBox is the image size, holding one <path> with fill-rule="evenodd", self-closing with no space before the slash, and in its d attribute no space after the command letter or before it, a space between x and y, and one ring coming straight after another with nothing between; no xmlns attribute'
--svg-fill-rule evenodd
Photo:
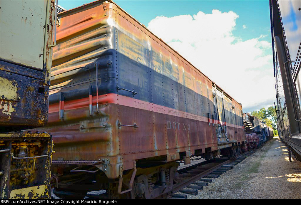
<svg viewBox="0 0 301 205"><path fill-rule="evenodd" d="M47 122L54 17L54 0L0 1L2 199L51 197L51 135L22 130Z"/></svg>

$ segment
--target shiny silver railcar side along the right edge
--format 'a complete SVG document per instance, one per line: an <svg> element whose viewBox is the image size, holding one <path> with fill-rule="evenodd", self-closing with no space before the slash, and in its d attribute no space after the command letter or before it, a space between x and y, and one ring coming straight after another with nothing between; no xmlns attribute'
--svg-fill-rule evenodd
<svg viewBox="0 0 301 205"><path fill-rule="evenodd" d="M301 161L301 1L270 0L278 133Z"/></svg>

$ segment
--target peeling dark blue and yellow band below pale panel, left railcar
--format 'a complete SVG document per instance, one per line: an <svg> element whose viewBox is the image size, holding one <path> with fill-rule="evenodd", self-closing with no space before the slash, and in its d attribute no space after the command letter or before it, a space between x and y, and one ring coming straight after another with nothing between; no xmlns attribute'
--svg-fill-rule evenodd
<svg viewBox="0 0 301 205"><path fill-rule="evenodd" d="M3 61L0 66L22 69ZM47 122L48 85L45 85L44 79L0 69L0 84L0 132L42 126Z"/></svg>

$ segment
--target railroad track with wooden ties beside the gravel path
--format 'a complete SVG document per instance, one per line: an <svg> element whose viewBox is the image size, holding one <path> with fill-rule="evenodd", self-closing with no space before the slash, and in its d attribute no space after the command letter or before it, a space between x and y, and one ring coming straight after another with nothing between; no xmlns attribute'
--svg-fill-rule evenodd
<svg viewBox="0 0 301 205"><path fill-rule="evenodd" d="M245 156L251 154L253 154L252 150L238 155L235 160L219 158L179 169L179 179L174 185L172 192L165 196L160 196L159 198L186 199L186 194L197 195L197 192L203 190L203 186L207 186L208 183L212 182L213 178L218 178L222 173L225 173L232 169L236 164L243 161ZM178 191L184 194L175 194Z"/></svg>

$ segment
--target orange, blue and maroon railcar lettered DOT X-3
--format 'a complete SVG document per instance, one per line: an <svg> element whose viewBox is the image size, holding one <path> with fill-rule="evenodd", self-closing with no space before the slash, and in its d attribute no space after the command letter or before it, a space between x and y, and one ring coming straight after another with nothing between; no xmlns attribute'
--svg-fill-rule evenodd
<svg viewBox="0 0 301 205"><path fill-rule="evenodd" d="M114 2L58 18L41 128L58 196L155 198L176 182L175 161L239 153L241 105Z"/></svg>

